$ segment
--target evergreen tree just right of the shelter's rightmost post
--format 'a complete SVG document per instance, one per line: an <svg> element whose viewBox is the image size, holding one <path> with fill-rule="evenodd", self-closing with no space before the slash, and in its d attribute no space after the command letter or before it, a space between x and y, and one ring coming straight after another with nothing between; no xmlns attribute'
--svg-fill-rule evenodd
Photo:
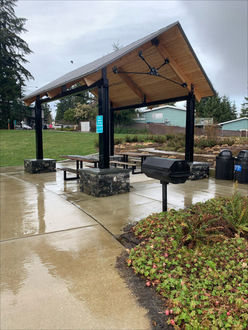
<svg viewBox="0 0 248 330"><path fill-rule="evenodd" d="M227 96L220 97L218 94L202 98L196 102L197 117L213 118L215 123L221 123L237 118L236 105L231 104Z"/></svg>

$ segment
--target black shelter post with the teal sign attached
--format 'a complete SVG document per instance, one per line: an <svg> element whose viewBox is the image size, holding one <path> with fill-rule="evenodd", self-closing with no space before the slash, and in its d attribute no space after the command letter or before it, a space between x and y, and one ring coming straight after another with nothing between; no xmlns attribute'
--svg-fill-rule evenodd
<svg viewBox="0 0 248 330"><path fill-rule="evenodd" d="M98 87L98 113L103 116L103 133L99 133L99 168L109 168L109 86L107 69L102 69L102 83Z"/></svg>

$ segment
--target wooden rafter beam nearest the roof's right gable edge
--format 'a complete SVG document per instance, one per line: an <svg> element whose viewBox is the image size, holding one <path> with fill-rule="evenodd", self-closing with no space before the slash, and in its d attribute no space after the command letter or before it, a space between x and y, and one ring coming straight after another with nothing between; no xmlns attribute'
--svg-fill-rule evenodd
<svg viewBox="0 0 248 330"><path fill-rule="evenodd" d="M178 64L176 63L176 61L173 59L173 57L169 53L168 49L164 45L162 45L161 43L158 43L155 46L156 46L159 54L163 58L169 58L169 65L170 65L170 67L172 68L172 70L175 72L175 74L180 78L180 80L183 83L186 82L187 88L188 88L188 90L190 92L191 91L192 81L185 75L185 73L182 72L182 70L179 68ZM198 91L195 88L195 86L194 86L194 94L195 94L195 97L196 97L197 101L200 102L201 96L198 93Z"/></svg>

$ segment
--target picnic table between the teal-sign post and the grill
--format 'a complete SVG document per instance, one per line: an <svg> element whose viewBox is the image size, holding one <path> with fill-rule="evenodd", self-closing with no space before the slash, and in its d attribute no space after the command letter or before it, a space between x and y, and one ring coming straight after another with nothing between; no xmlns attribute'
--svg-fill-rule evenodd
<svg viewBox="0 0 248 330"><path fill-rule="evenodd" d="M110 163L114 164L115 166L121 165L121 166L123 166L123 168L126 168L126 169L131 167L133 174L142 173L142 171L135 172L137 165L139 165L141 167L143 161L147 157L152 156L152 155L144 153L144 152L134 152L134 151L123 151L123 152L119 152L118 155L123 156L123 160L122 161L113 160L113 161L110 161ZM131 159L129 159L129 157L131 157Z"/></svg>

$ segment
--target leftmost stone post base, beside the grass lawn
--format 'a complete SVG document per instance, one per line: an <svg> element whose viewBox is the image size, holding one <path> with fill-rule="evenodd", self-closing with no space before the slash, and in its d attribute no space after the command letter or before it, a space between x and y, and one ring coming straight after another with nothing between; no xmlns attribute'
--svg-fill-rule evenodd
<svg viewBox="0 0 248 330"><path fill-rule="evenodd" d="M28 173L44 173L56 171L56 160L44 159L24 159L24 170Z"/></svg>

